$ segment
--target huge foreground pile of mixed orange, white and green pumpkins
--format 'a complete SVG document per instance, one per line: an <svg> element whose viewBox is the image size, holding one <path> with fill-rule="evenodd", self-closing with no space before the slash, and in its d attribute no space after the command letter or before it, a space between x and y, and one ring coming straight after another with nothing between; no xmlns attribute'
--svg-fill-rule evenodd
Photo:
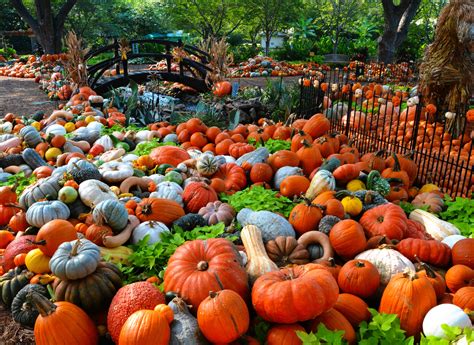
<svg viewBox="0 0 474 345"><path fill-rule="evenodd" d="M256 316L272 324L268 344L299 344L296 330L321 323L352 344L368 306L397 314L410 336L472 325L474 239L434 215L442 193L413 186L409 158L362 155L323 114L291 126L221 130L192 118L101 135L122 116L94 108L92 90L80 95L47 118L1 124L0 178L38 181L19 196L0 188L0 296L37 344L97 344L105 333L122 345L258 344L247 335ZM156 138L164 145L133 153ZM271 154L269 139L290 149ZM289 217L219 200L254 186L294 199ZM401 200L428 211L407 217ZM168 261L163 291L123 285L116 264L129 244L158 242L172 225L235 221L242 246L189 241Z"/></svg>

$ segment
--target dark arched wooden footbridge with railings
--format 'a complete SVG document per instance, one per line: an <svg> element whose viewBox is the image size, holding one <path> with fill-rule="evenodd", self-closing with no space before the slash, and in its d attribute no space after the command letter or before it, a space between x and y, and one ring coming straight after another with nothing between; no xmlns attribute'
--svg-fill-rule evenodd
<svg viewBox="0 0 474 345"><path fill-rule="evenodd" d="M144 45L147 45L146 50L150 50L152 46L156 52L145 51ZM126 59L123 59L120 54L119 43L117 40L113 44L99 48L86 55L86 63L91 58L99 56L103 53L113 53L113 57L106 58L94 65L87 66L87 73L89 78L89 86L91 86L97 93L103 94L112 88L126 86L133 80L137 83L144 83L149 80L150 76L154 75L160 80L179 82L190 86L199 92L209 90L209 85L206 83L206 75L211 69L207 66L209 61L209 54L202 50L189 45L184 45L181 40L178 42L164 40L164 39L141 39L131 40L130 47L134 45L138 47L138 53L130 51L127 53ZM188 55L192 55L194 59L182 58L179 62L178 71L172 70L173 54L172 50L175 47L182 48ZM143 69L130 72L128 68L128 61L135 58L152 58L156 61L166 61L166 68L164 70L149 70ZM115 70L115 75L106 77L104 73L110 69Z"/></svg>

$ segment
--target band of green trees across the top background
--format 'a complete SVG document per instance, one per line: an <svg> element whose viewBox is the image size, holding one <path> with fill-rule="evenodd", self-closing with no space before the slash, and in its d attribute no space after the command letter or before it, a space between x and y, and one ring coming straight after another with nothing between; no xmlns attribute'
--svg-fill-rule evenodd
<svg viewBox="0 0 474 345"><path fill-rule="evenodd" d="M0 30L31 27L45 51L61 49L61 37L68 30L77 32L90 46L102 45L111 38L140 38L149 33L182 30L193 43L208 37L227 37L237 60L260 51L292 60L340 53L389 62L422 56L446 3L447 0L0 0ZM288 33L285 46L265 52L265 45L259 46L261 38L269 42L278 31Z"/></svg>

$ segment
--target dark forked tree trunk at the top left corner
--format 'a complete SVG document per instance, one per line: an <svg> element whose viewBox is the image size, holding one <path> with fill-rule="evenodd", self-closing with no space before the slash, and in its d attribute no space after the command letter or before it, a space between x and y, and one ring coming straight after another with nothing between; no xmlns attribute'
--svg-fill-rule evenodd
<svg viewBox="0 0 474 345"><path fill-rule="evenodd" d="M66 0L54 13L51 0L35 0L36 18L22 0L10 0L20 17L31 27L36 39L47 54L61 52L64 22L77 0Z"/></svg>

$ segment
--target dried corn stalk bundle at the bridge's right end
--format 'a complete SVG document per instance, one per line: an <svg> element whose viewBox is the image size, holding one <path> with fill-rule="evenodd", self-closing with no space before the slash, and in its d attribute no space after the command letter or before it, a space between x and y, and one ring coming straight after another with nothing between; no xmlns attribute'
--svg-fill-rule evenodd
<svg viewBox="0 0 474 345"><path fill-rule="evenodd" d="M233 62L225 37L220 40L210 37L201 42L199 49L207 52L210 56L208 66L212 71L207 73L206 83L212 84L223 80L229 72L229 65Z"/></svg>

